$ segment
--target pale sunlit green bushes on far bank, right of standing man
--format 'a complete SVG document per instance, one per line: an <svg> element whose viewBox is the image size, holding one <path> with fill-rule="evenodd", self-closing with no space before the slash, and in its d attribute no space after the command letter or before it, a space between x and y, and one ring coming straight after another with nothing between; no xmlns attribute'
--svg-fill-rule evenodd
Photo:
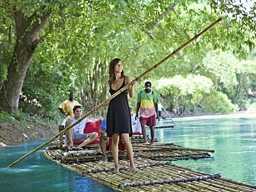
<svg viewBox="0 0 256 192"><path fill-rule="evenodd" d="M209 78L201 75L178 75L174 78L160 79L154 84L158 85L157 92L170 101L174 112L183 108L188 112L228 114L238 109L225 94L212 89L214 83Z"/></svg>

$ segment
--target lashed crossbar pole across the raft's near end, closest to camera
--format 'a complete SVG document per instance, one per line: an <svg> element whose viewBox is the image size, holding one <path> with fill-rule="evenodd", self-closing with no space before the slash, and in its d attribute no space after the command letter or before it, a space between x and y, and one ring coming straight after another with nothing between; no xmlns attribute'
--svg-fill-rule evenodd
<svg viewBox="0 0 256 192"><path fill-rule="evenodd" d="M188 177L188 178L176 178L176 179L168 179L168 180L122 183L122 184L119 184L118 187L124 188L124 187L127 187L127 186L141 186L141 185L154 185L154 184L162 184L162 183L177 183L177 182L187 182L187 181L198 181L198 180L205 180L205 179L219 178L219 177L221 177L221 174L212 174L212 175L196 176L196 177Z"/></svg>

